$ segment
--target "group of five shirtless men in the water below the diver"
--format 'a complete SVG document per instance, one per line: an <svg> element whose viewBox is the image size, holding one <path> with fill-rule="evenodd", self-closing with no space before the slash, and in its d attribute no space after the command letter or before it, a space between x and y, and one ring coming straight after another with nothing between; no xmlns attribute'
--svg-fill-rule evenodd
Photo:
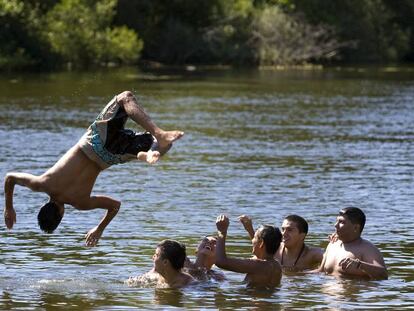
<svg viewBox="0 0 414 311"><path fill-rule="evenodd" d="M329 237L325 251L306 245L307 221L298 215L287 216L282 231L271 225L262 225L256 231L251 219L242 215L240 222L252 241L252 258L241 259L227 256L226 238L229 218L219 215L216 220L217 236L205 237L196 251L192 263L186 255L184 244L164 240L157 245L153 256L153 269L139 277L131 277L126 283L136 285L143 279L155 280L157 286L179 288L197 281L225 280L223 270L245 274L248 287L275 288L282 273L322 272L354 279L386 279L387 268L380 251L361 237L365 214L357 207L340 210L335 232Z"/></svg>

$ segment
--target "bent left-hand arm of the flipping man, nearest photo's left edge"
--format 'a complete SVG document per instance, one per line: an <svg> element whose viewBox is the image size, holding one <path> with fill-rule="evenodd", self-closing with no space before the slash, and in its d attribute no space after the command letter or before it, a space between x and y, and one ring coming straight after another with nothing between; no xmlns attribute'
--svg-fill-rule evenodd
<svg viewBox="0 0 414 311"><path fill-rule="evenodd" d="M8 173L4 179L4 222L8 229L16 223L16 211L13 207L14 186L27 187L33 191L40 191L39 177L26 173Z"/></svg>

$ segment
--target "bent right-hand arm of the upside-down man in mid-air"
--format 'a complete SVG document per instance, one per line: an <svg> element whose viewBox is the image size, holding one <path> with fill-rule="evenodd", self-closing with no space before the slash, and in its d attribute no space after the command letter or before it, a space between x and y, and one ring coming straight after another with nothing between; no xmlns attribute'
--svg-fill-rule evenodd
<svg viewBox="0 0 414 311"><path fill-rule="evenodd" d="M103 208L107 210L105 216L99 224L89 230L89 232L85 235L85 244L87 246L95 246L98 244L103 231L116 216L116 214L118 214L120 207L121 202L106 196L93 196L89 198L87 205L76 206L76 208L80 210L91 210L95 208Z"/></svg>

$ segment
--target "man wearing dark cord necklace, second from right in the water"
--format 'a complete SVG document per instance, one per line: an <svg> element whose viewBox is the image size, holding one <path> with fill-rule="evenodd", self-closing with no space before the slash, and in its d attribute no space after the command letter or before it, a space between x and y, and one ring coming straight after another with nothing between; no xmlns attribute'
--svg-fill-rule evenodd
<svg viewBox="0 0 414 311"><path fill-rule="evenodd" d="M246 215L241 215L239 220L252 238L254 235L252 220ZM298 215L289 215L283 220L282 243L275 255L283 271L314 269L321 263L323 250L305 244L308 228L307 221Z"/></svg>

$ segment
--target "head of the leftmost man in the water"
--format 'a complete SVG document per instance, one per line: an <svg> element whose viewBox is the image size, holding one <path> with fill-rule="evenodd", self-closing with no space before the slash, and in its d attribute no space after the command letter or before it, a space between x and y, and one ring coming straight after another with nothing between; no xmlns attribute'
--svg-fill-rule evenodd
<svg viewBox="0 0 414 311"><path fill-rule="evenodd" d="M184 261L187 257L185 245L173 240L164 240L157 245L155 254L152 257L154 269L162 274L168 265L174 270L180 270L184 267Z"/></svg>

